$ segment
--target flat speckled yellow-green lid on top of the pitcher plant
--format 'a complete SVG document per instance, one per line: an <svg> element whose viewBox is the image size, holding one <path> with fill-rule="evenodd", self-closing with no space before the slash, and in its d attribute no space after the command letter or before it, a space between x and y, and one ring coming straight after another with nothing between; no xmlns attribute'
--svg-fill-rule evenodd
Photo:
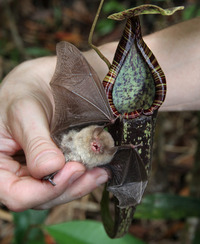
<svg viewBox="0 0 200 244"><path fill-rule="evenodd" d="M114 20L123 20L123 19L128 19L133 16L138 16L142 14L162 14L162 15L172 15L178 10L184 9L183 6L179 7L174 7L174 8L169 8L169 9L163 9L160 8L156 5L152 4L144 4L140 5L135 8L127 9L119 13L112 14L108 16L109 19L114 19Z"/></svg>

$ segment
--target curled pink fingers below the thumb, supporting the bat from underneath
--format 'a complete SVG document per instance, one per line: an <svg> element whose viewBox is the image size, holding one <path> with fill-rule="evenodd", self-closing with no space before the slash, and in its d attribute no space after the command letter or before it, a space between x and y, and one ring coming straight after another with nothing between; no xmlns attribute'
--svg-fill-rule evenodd
<svg viewBox="0 0 200 244"><path fill-rule="evenodd" d="M80 198L108 179L103 169L85 170L82 164L69 162L55 175L52 186L32 178L25 167L7 157L0 165L0 202L12 211L47 209Z"/></svg>

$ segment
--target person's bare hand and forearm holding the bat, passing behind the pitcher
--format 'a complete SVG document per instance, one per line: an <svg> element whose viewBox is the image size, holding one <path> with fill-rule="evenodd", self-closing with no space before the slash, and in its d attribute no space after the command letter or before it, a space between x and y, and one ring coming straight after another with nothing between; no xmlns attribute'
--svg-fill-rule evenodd
<svg viewBox="0 0 200 244"><path fill-rule="evenodd" d="M177 24L144 38L167 78L164 111L199 110L200 18ZM100 47L112 61L117 43ZM102 80L107 66L94 51L84 53ZM56 57L26 61L0 85L0 202L13 211L46 209L88 194L107 181L100 168L86 171L68 162L50 138L53 96L49 82ZM26 165L15 160L24 150ZM42 177L59 171L52 186Z"/></svg>

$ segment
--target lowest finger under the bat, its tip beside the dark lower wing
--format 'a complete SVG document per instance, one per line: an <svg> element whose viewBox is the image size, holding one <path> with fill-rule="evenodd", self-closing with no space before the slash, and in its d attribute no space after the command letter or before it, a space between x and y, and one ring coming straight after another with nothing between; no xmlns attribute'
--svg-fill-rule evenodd
<svg viewBox="0 0 200 244"><path fill-rule="evenodd" d="M64 169L62 171L63 176L66 174L65 170L67 171L67 169ZM99 185L105 183L107 180L108 174L104 169L94 168L92 170L86 171L84 174L78 177L77 180L69 182L68 187L60 196L54 198L49 202L38 205L37 207L35 207L35 209L48 209L56 205L64 204L83 197Z"/></svg>

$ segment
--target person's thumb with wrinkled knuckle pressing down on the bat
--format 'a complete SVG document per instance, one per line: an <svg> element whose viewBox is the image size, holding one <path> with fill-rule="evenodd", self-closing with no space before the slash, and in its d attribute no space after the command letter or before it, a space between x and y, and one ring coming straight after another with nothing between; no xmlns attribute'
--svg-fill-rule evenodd
<svg viewBox="0 0 200 244"><path fill-rule="evenodd" d="M39 101L18 99L8 115L12 136L24 150L33 177L41 179L64 166L64 156L50 137L47 114Z"/></svg>

